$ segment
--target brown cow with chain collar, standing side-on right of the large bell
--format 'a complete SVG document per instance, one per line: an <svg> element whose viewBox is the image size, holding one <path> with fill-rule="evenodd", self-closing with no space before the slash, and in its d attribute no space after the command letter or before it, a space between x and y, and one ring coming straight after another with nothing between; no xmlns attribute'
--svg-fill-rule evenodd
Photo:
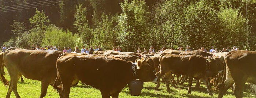
<svg viewBox="0 0 256 98"><path fill-rule="evenodd" d="M175 55L171 53L162 53L159 60L160 71L156 73L156 76L160 78L169 71L181 75L187 75L189 79L188 94L191 94L193 78L204 78L205 72L209 67L206 58L198 55ZM205 79L202 80L207 87L209 95L212 95L207 81Z"/></svg>

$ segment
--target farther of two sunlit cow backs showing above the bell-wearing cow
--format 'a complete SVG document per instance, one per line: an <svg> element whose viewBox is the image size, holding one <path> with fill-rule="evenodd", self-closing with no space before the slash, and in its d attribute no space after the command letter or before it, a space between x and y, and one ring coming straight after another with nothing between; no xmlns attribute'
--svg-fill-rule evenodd
<svg viewBox="0 0 256 98"><path fill-rule="evenodd" d="M104 53L103 53L103 56L109 56L109 55L136 55L136 56L139 56L137 53L134 53L134 52L116 52L114 50L106 50Z"/></svg>

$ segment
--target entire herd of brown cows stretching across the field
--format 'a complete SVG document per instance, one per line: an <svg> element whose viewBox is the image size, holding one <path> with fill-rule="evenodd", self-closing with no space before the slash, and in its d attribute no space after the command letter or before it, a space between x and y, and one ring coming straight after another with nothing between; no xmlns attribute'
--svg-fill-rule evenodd
<svg viewBox="0 0 256 98"><path fill-rule="evenodd" d="M218 98L233 85L237 98L242 98L245 82L253 83L252 87L256 88L256 52L253 51L212 54L201 50L164 50L163 53L140 55L142 57L133 52L113 50L80 54L11 47L0 53L1 80L4 86L9 86L6 98L10 98L12 91L20 98L17 83L22 75L41 81L40 98L45 97L49 85L57 90L60 98L68 98L70 87L79 80L99 89L103 98L118 98L121 90L134 79L157 82L155 89L158 89L163 78L167 91L170 91L169 83L175 87L188 79L188 94L191 94L195 79L196 87L203 82L209 95L212 90L219 90ZM3 75L4 66L10 83Z"/></svg>

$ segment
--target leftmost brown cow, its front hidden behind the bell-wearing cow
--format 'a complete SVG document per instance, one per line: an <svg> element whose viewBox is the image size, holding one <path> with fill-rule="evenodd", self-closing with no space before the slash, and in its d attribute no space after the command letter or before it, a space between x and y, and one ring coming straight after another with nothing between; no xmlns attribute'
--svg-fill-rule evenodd
<svg viewBox="0 0 256 98"><path fill-rule="evenodd" d="M21 75L27 79L41 81L40 98L44 97L47 93L48 86L53 85L56 79L56 60L61 53L63 52L56 50L38 51L14 47L7 49L4 53L4 63L1 66L3 69L5 64L11 78L6 98L10 98L12 91L14 91L16 98L20 98L17 92L17 83ZM8 81L2 72L1 78L3 79L4 85L8 86Z"/></svg>

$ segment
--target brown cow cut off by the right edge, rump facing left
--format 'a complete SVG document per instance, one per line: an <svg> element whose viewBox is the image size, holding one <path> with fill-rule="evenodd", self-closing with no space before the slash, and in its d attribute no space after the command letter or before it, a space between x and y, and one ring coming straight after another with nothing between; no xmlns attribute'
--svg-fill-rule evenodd
<svg viewBox="0 0 256 98"><path fill-rule="evenodd" d="M234 95L242 98L245 82L256 84L256 52L230 51L224 59L224 76L218 84L218 98L222 98L226 91L235 83Z"/></svg>

